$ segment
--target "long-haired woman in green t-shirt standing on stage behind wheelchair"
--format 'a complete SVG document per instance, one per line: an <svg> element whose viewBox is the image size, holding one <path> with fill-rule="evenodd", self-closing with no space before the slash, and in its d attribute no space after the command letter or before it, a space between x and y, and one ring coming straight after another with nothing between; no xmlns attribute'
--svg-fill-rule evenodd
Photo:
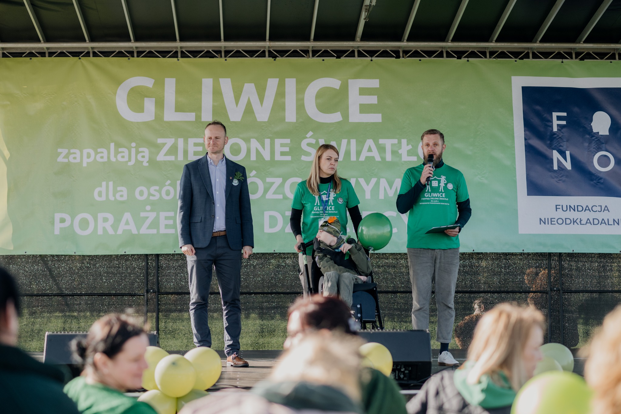
<svg viewBox="0 0 621 414"><path fill-rule="evenodd" d="M347 212L351 217L353 231L358 235L358 225L362 220L358 209L358 196L351 183L338 176L338 150L330 144L322 144L315 151L311 174L306 181L297 184L291 203L291 231L296 236L297 252L300 243L309 243L317 235L319 224L330 216L335 216L347 233ZM312 246L307 248L309 261ZM302 266L302 263L300 264ZM313 289L317 292L319 278L313 278Z"/></svg>

